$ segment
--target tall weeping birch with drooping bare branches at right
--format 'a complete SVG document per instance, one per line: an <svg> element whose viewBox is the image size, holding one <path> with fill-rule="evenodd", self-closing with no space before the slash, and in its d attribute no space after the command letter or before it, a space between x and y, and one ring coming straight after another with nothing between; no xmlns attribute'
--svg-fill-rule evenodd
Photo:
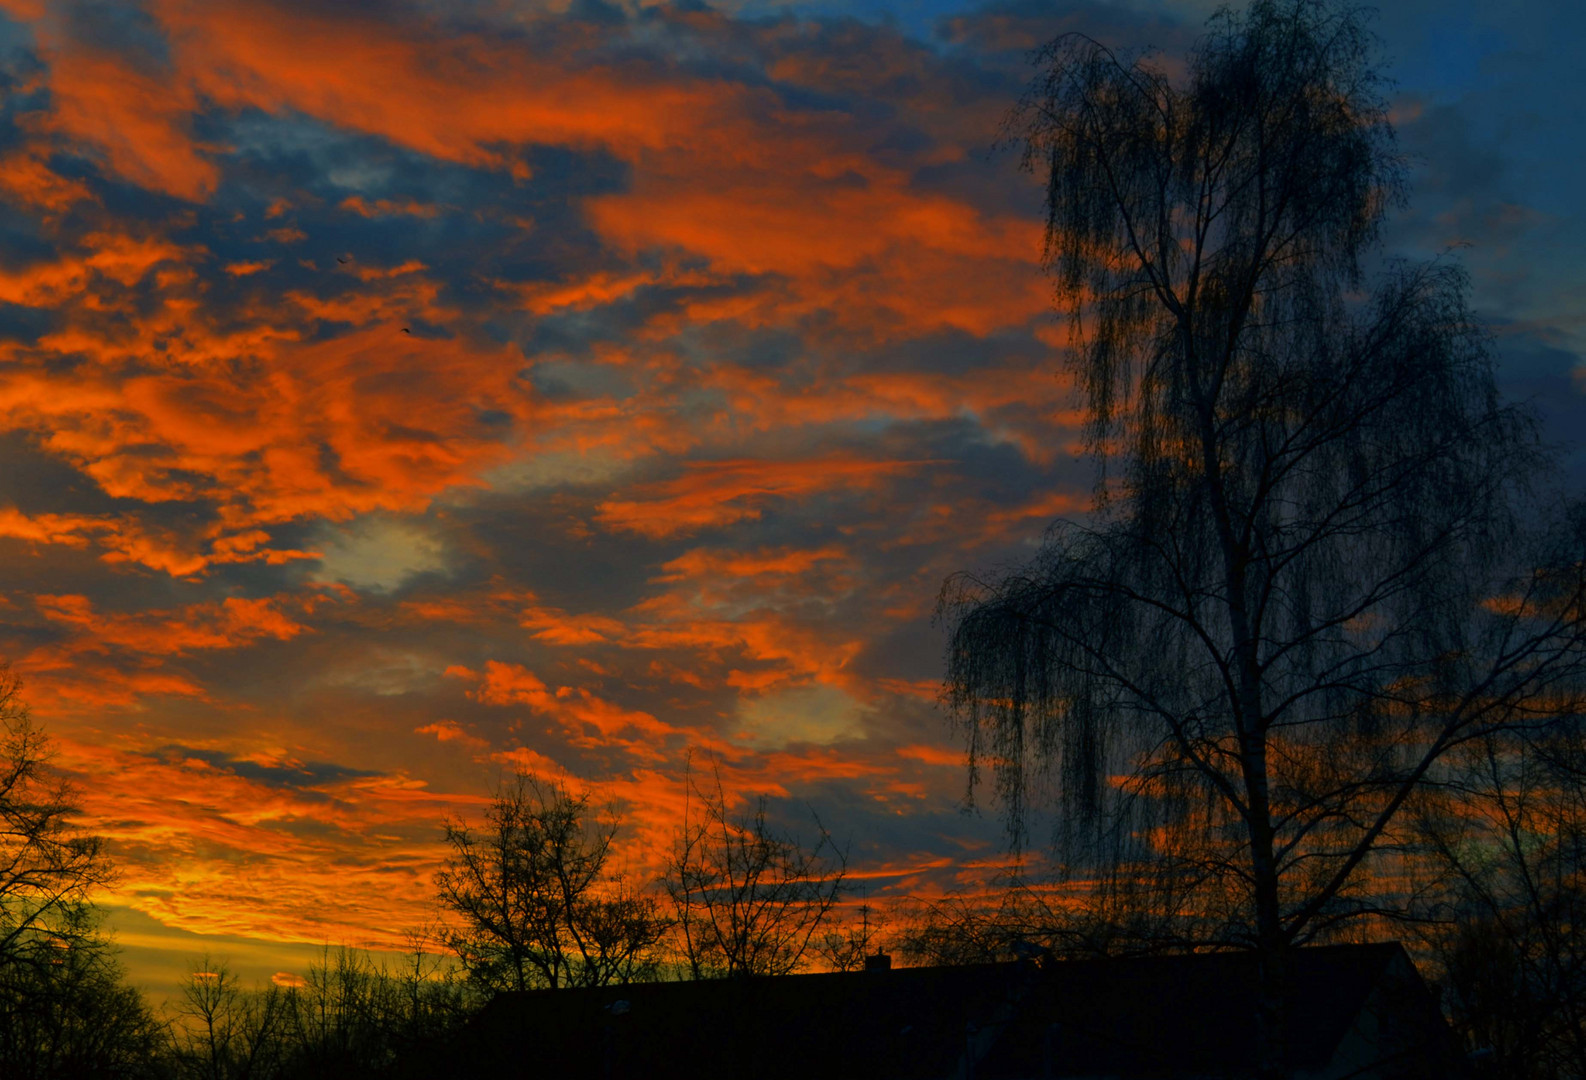
<svg viewBox="0 0 1586 1080"><path fill-rule="evenodd" d="M945 699L1015 836L1050 782L1074 866L1194 891L1261 956L1285 1074L1288 952L1362 887L1448 752L1573 707L1578 522L1502 403L1445 262L1367 282L1400 163L1364 16L1223 11L1182 76L1080 35L1013 117L1099 465L1094 515L952 579Z"/></svg>

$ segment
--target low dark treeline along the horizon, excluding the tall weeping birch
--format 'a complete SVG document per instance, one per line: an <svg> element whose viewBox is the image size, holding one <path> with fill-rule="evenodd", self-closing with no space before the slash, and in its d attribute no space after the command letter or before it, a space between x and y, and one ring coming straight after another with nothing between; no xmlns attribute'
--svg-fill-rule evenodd
<svg viewBox="0 0 1586 1080"><path fill-rule="evenodd" d="M244 985L195 958L163 1007L125 983L86 890L113 880L70 826L71 791L5 674L0 1075L16 1080L309 1080L401 1075L496 993L796 971L1175 952L1204 917L1148 874L1075 882L1034 860L963 894L868 901L820 825L779 828L763 798L690 776L665 871L614 864L623 820L588 790L520 774L484 820L442 823L438 918L404 955L327 947L293 979ZM1586 1077L1586 731L1469 749L1415 807L1405 872L1380 910L1318 940L1408 937L1483 1075Z"/></svg>

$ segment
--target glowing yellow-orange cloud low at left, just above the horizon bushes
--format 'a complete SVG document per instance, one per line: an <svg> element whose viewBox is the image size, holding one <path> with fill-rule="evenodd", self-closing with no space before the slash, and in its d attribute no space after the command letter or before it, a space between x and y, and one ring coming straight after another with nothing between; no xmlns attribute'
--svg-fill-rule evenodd
<svg viewBox="0 0 1586 1080"><path fill-rule="evenodd" d="M84 828L116 856L113 898L208 934L400 947L433 912L441 820L485 801L403 776L305 774L298 787L197 756L57 745L82 793Z"/></svg>

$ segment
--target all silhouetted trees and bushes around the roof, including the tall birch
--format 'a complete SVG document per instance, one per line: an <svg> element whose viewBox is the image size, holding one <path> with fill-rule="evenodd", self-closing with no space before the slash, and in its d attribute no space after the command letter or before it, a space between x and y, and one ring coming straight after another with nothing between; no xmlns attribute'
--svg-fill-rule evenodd
<svg viewBox="0 0 1586 1080"><path fill-rule="evenodd" d="M1172 73L1082 35L1040 65L1009 135L1098 498L940 612L971 793L986 766L1052 872L855 906L820 821L691 777L665 874L628 880L617 810L523 776L446 825L433 955L270 988L203 961L157 1015L11 679L0 1075L381 1075L501 991L1245 950L1234 1029L1278 1080L1296 950L1394 937L1481 1072L1586 1080L1586 511L1458 266L1377 247L1405 182L1366 16L1255 0Z"/></svg>

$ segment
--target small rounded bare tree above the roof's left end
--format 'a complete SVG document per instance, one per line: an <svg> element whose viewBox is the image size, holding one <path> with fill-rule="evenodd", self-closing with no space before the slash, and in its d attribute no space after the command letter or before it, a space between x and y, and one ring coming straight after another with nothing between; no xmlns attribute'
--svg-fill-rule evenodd
<svg viewBox="0 0 1586 1080"><path fill-rule="evenodd" d="M604 986L653 977L666 921L612 874L615 821L588 793L534 776L503 787L479 831L446 826L436 877L460 921L447 933L471 979L492 990Z"/></svg>

